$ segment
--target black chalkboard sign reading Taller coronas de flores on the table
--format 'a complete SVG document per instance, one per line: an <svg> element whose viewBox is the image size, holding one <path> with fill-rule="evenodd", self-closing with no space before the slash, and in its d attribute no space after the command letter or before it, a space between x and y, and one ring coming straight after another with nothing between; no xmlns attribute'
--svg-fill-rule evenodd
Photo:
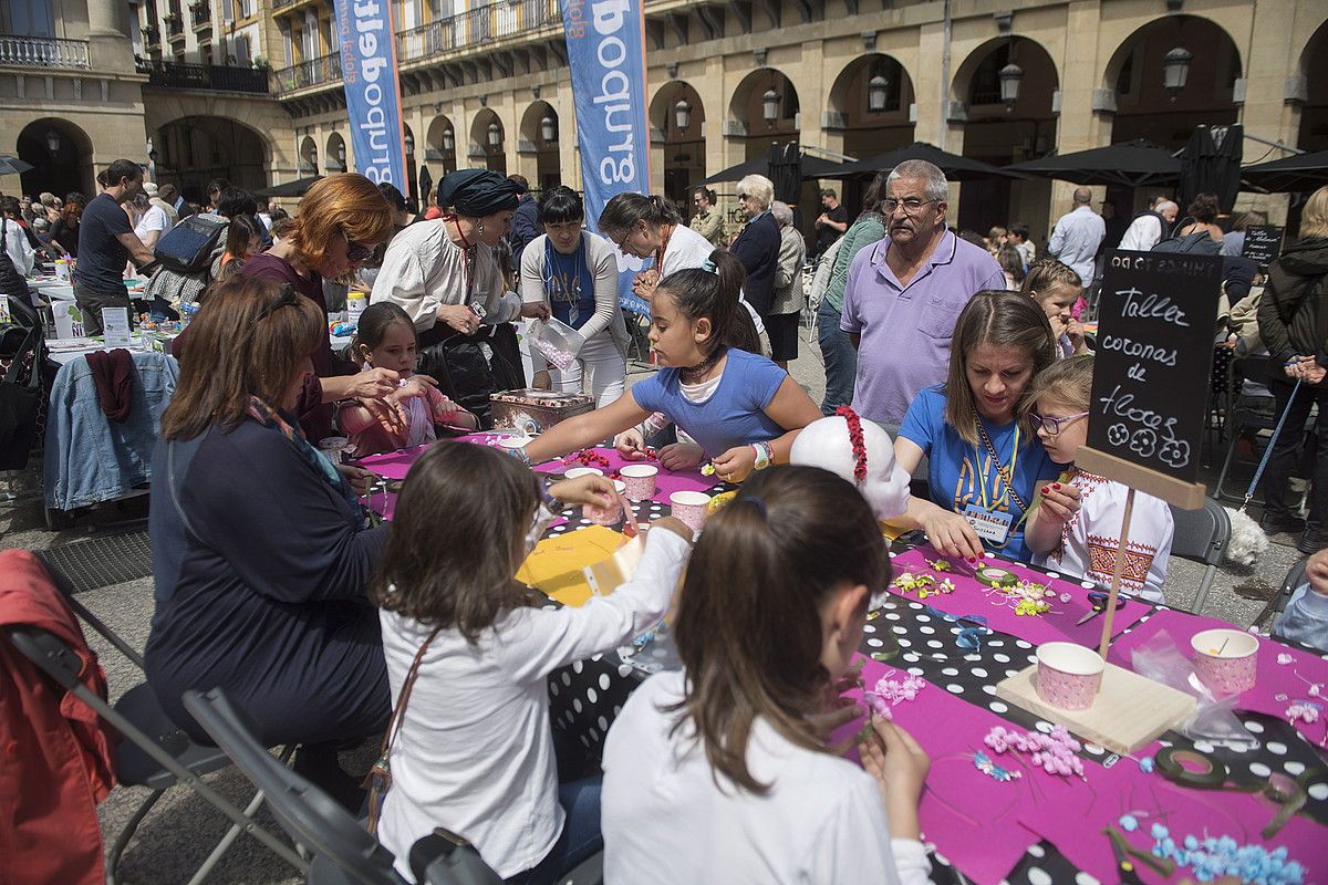
<svg viewBox="0 0 1328 885"><path fill-rule="evenodd" d="M1137 475L1197 483L1222 276L1220 256L1108 253L1088 446L1126 467L1112 479L1167 500Z"/></svg>

